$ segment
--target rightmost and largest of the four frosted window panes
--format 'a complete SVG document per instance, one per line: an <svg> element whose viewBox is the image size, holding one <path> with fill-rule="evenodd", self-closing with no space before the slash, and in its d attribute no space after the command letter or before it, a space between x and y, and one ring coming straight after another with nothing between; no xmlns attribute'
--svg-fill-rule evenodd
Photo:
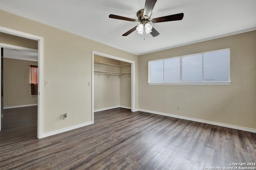
<svg viewBox="0 0 256 170"><path fill-rule="evenodd" d="M204 81L229 81L229 50L204 53Z"/></svg>

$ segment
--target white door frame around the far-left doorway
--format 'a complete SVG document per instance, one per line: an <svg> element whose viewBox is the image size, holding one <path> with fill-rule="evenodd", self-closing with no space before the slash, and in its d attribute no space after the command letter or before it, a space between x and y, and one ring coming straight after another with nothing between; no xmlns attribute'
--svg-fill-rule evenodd
<svg viewBox="0 0 256 170"><path fill-rule="evenodd" d="M9 29L0 26L0 32L17 37L22 37L26 39L32 39L38 41L38 121L37 121L37 138L42 138L43 130L43 56L44 56L44 38L37 35L32 35L29 33L24 33L14 29ZM3 45L3 44L2 44ZM10 45L11 46L11 45ZM0 117L0 127L1 127L1 117ZM1 130L1 129L0 129Z"/></svg>

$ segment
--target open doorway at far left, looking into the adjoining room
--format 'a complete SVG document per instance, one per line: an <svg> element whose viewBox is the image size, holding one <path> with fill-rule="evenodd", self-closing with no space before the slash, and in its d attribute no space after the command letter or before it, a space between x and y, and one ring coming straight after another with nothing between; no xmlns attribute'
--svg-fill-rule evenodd
<svg viewBox="0 0 256 170"><path fill-rule="evenodd" d="M4 47L1 58L1 129L19 131L20 135L30 129L30 135L35 137L38 93L32 94L30 84L34 72L30 67L38 65L38 50ZM38 77L36 73L34 76Z"/></svg>

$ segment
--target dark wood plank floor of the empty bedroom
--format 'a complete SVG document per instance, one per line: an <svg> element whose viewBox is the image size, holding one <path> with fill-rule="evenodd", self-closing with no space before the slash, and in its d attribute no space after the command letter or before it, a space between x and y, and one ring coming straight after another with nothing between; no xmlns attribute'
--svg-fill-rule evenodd
<svg viewBox="0 0 256 170"><path fill-rule="evenodd" d="M93 125L44 139L36 139L35 125L1 131L0 169L201 170L256 162L255 133L122 108L94 116Z"/></svg>

